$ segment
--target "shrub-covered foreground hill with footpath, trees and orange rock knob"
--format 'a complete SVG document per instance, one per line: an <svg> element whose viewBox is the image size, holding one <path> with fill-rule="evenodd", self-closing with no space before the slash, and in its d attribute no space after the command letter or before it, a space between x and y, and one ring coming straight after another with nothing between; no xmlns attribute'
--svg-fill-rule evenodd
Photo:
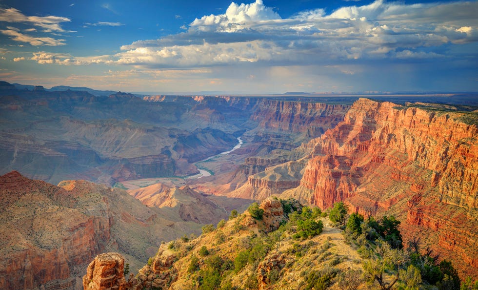
<svg viewBox="0 0 478 290"><path fill-rule="evenodd" d="M400 235L392 216L351 215L340 226L331 222L333 212L329 219L317 207L268 198L217 228L204 227L198 238L164 243L138 273L125 271L119 254L101 254L88 266L83 289L459 289L453 267L421 253L419 241L408 249L390 241L392 232Z"/></svg>

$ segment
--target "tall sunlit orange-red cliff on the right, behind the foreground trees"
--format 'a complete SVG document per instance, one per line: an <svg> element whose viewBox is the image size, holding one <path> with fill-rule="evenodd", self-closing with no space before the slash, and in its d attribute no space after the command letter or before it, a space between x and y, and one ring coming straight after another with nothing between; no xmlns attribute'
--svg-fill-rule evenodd
<svg viewBox="0 0 478 290"><path fill-rule="evenodd" d="M466 118L428 104L359 99L308 144L300 186L286 194L322 209L344 201L365 216L394 214L405 240L425 237L423 247L476 279L478 128Z"/></svg>

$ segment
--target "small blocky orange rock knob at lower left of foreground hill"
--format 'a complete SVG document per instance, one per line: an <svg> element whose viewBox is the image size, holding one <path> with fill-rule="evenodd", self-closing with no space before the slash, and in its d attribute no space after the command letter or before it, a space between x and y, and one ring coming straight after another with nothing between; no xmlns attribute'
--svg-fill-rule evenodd
<svg viewBox="0 0 478 290"><path fill-rule="evenodd" d="M83 276L84 290L125 290L124 258L119 253L96 256Z"/></svg>

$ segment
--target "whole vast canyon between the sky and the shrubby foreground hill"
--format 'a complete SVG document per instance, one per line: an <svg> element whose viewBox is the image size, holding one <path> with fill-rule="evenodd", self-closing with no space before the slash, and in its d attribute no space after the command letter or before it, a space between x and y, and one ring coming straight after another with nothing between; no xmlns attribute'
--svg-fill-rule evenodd
<svg viewBox="0 0 478 290"><path fill-rule="evenodd" d="M451 98L455 104L374 99L102 96L0 83L8 209L0 214L0 288L82 289L81 277L111 260L88 266L102 252L118 252L137 271L158 248L164 254L156 257L167 256L161 241L199 234L272 195L322 210L343 201L365 217L393 214L405 245L423 237L462 278L477 279L473 96ZM238 137L240 148L215 156ZM199 169L211 175L188 179ZM153 184L124 190L123 182L142 179Z"/></svg>

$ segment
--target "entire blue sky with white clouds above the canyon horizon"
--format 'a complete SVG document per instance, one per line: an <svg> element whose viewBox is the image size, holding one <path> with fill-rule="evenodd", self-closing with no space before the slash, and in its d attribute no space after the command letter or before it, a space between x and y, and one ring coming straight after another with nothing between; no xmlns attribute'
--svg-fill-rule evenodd
<svg viewBox="0 0 478 290"><path fill-rule="evenodd" d="M157 93L478 91L478 1L0 0L0 80Z"/></svg>

